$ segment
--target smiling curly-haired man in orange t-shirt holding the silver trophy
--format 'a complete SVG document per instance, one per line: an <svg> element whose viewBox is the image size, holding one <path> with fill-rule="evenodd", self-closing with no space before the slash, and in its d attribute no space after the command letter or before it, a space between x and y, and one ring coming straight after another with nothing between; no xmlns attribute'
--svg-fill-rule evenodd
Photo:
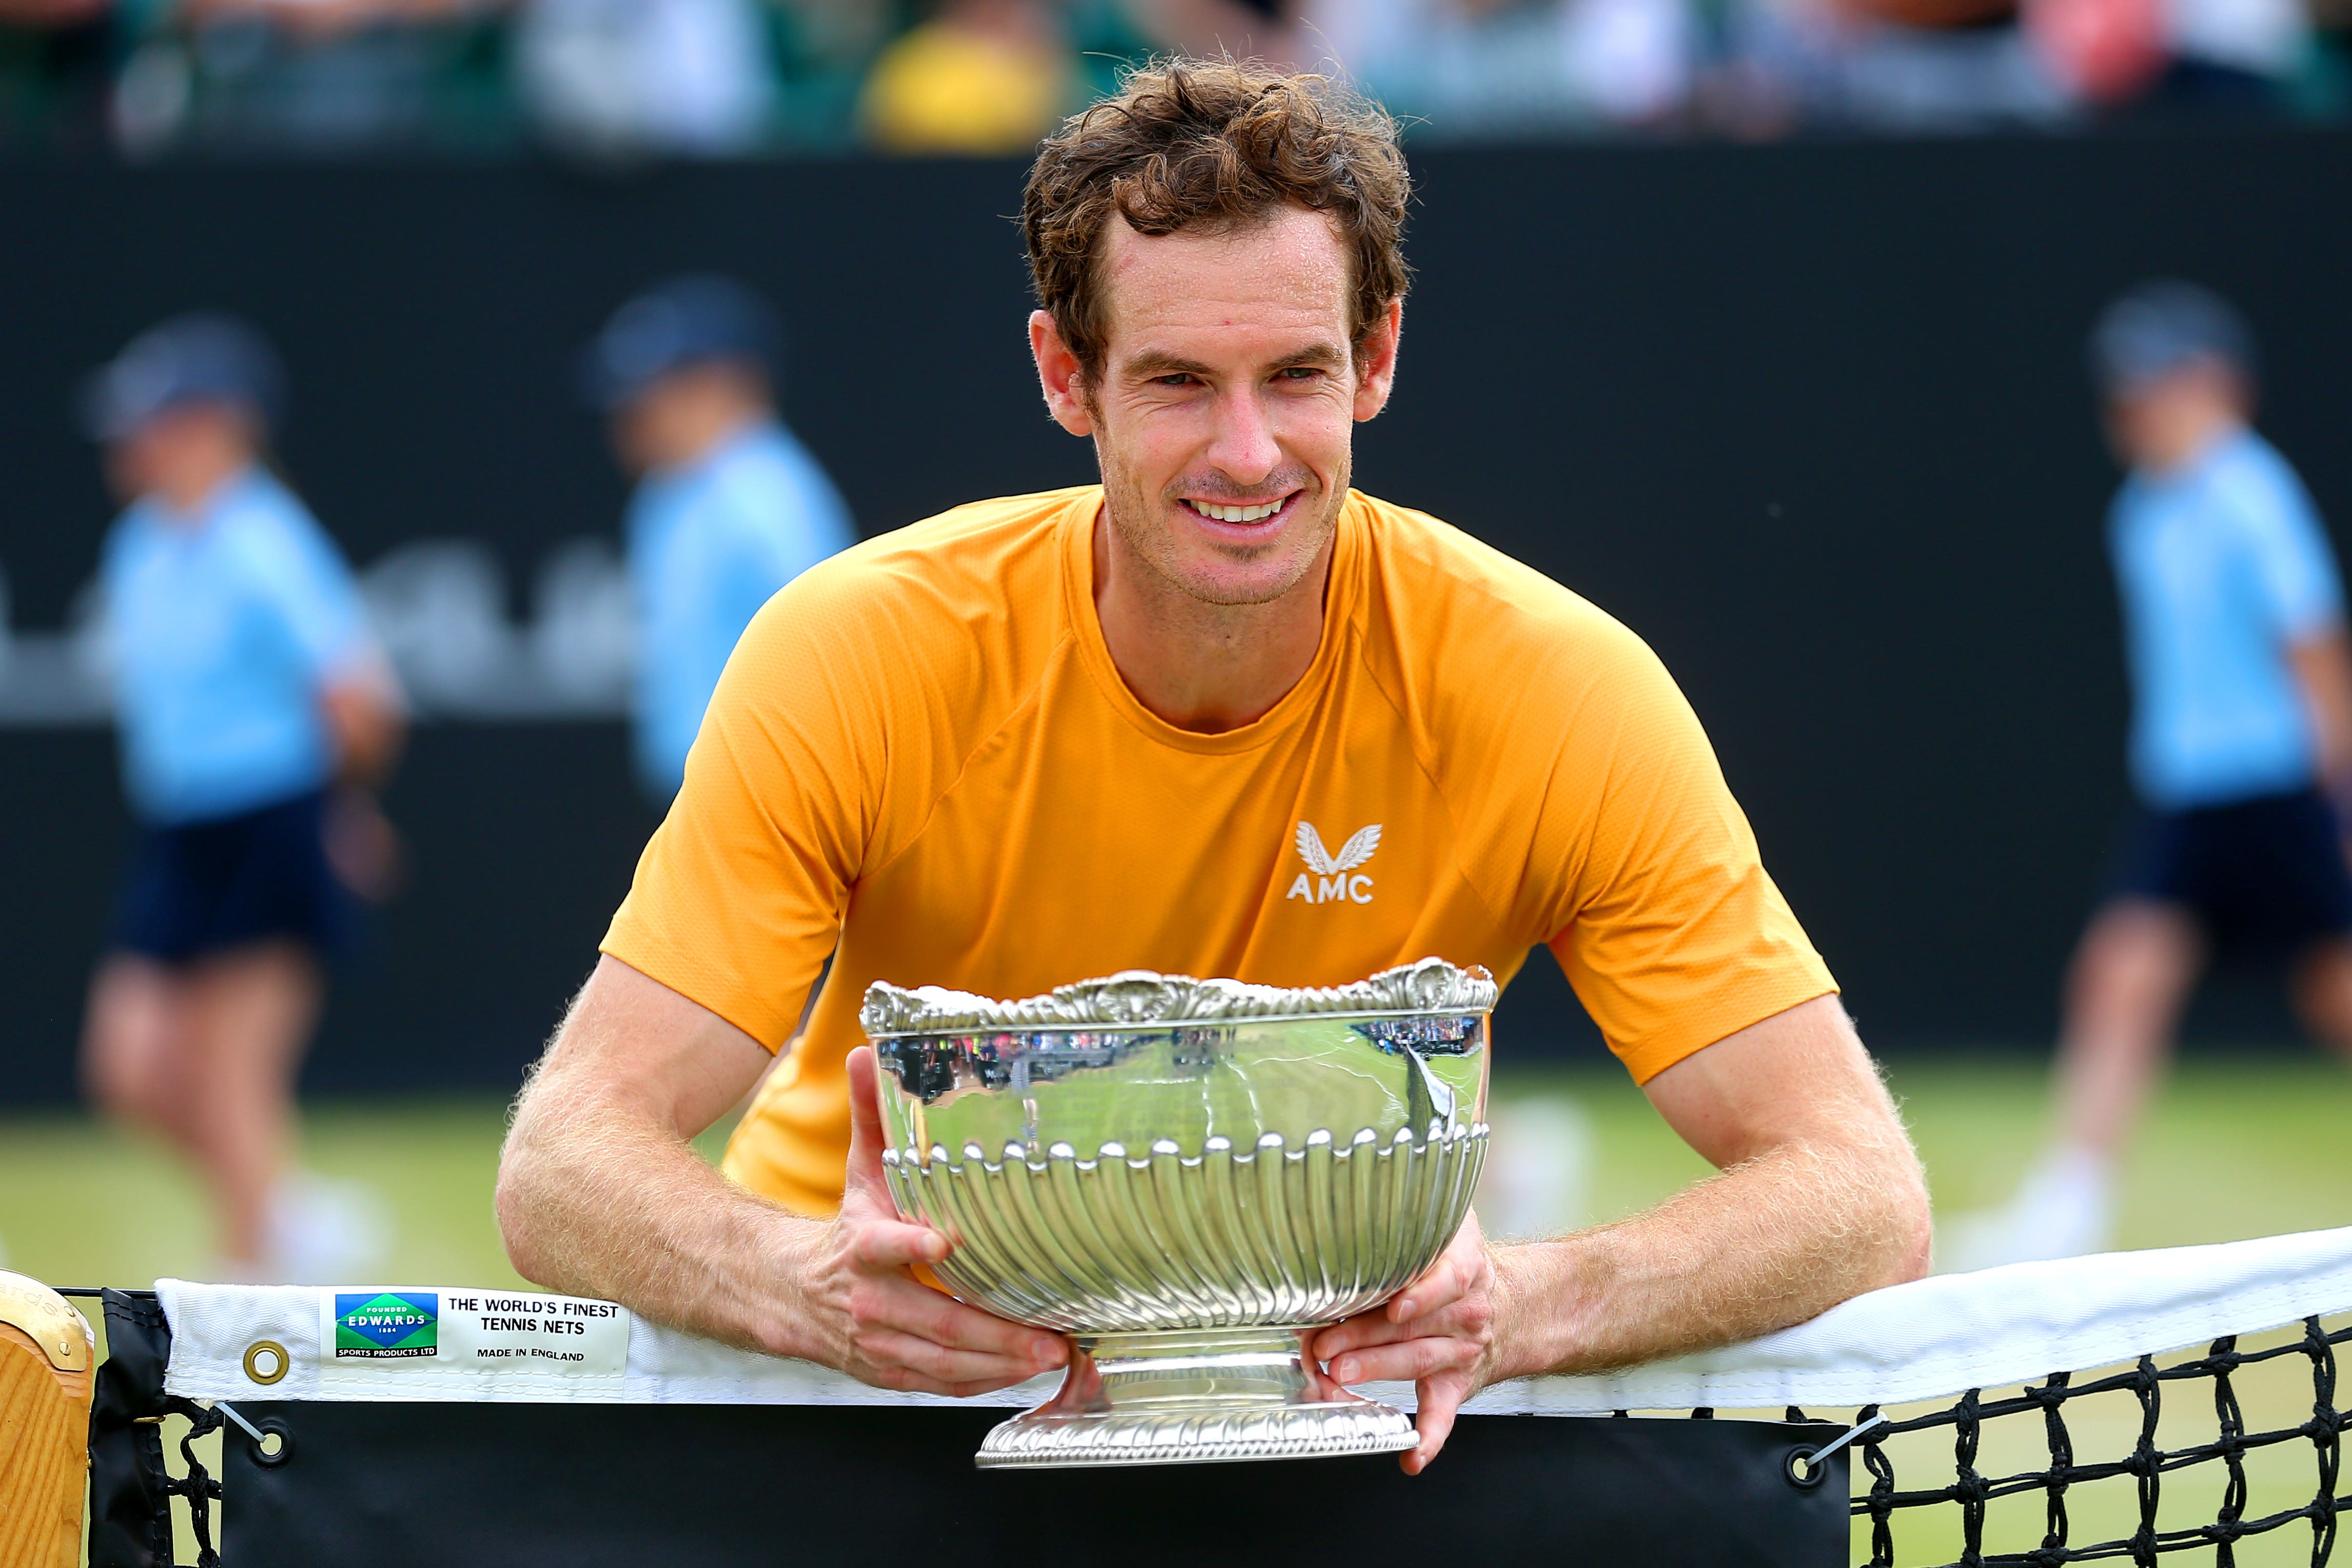
<svg viewBox="0 0 2352 1568"><path fill-rule="evenodd" d="M917 1281L946 1241L882 1187L870 980L1510 976L1534 943L1724 1175L1529 1246L1470 1220L1317 1335L1341 1382L1418 1380L1409 1472L1496 1378L1759 1333L1924 1267L1910 1143L1665 670L1348 489L1397 369L1404 205L1385 115L1251 63L1141 71L1047 141L1030 350L1103 482L870 541L753 623L517 1107L499 1215L524 1274L882 1387L1004 1387L1065 1347ZM684 1140L828 954L727 1182Z"/></svg>

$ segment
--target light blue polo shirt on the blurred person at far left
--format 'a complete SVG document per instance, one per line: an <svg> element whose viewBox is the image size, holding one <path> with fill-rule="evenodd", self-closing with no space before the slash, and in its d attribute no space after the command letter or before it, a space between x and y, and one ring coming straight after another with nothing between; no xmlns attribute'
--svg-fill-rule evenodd
<svg viewBox="0 0 2352 1568"><path fill-rule="evenodd" d="M195 517L139 501L101 567L132 809L176 825L254 811L334 773L320 696L372 649L350 569L254 468Z"/></svg>

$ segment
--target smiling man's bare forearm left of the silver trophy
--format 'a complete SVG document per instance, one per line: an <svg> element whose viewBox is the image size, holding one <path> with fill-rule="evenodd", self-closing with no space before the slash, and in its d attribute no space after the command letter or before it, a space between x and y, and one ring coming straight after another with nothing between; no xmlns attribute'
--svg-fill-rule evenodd
<svg viewBox="0 0 2352 1568"><path fill-rule="evenodd" d="M652 1119L567 1084L536 1084L499 1175L515 1267L574 1295L729 1345L809 1356L779 1309L800 1291L818 1220L743 1192Z"/></svg>

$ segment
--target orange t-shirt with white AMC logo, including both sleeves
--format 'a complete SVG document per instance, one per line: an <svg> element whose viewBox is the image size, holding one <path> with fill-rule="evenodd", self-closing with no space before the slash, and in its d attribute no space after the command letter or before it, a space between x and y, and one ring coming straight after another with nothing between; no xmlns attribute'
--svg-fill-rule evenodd
<svg viewBox="0 0 2352 1568"><path fill-rule="evenodd" d="M604 952L786 1044L727 1171L833 1213L870 980L1030 997L1120 969L1338 985L1548 943L1635 1079L1835 990L1658 658L1362 494L1289 696L1200 736L1103 644L1101 487L964 505L743 632ZM835 943L840 947L835 950Z"/></svg>

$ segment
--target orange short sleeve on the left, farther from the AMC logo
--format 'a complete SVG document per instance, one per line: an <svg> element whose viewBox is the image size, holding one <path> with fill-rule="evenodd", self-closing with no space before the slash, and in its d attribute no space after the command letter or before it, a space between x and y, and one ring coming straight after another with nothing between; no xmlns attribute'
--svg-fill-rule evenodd
<svg viewBox="0 0 2352 1568"><path fill-rule="evenodd" d="M786 590L746 628L602 945L769 1051L833 952L880 811L880 693L830 611Z"/></svg>

